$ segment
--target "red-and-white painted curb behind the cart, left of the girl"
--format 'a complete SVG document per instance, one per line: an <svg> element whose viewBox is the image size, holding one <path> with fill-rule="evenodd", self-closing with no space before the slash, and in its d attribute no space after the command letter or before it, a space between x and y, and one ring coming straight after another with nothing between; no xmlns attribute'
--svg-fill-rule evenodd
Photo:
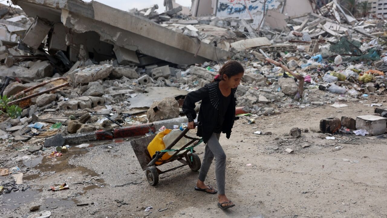
<svg viewBox="0 0 387 218"><path fill-rule="evenodd" d="M84 142L98 141L98 140L113 140L113 138L125 138L125 137L134 137L142 136L149 132L156 132L162 126L165 128L172 129L173 125L180 125L181 123L187 123L187 117L178 117L173 119L166 119L161 121L155 121L153 123L145 123L134 126L125 126L121 128L116 128L114 130L98 130L89 133L80 133L67 135L63 137L65 139L65 144L81 144Z"/></svg>

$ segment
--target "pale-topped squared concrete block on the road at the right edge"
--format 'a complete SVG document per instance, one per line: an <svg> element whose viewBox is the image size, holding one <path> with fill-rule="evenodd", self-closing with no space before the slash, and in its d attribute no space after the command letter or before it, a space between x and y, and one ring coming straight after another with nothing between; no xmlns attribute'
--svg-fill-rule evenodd
<svg viewBox="0 0 387 218"><path fill-rule="evenodd" d="M356 118L356 129L367 130L371 135L381 135L386 132L387 118L364 115Z"/></svg>

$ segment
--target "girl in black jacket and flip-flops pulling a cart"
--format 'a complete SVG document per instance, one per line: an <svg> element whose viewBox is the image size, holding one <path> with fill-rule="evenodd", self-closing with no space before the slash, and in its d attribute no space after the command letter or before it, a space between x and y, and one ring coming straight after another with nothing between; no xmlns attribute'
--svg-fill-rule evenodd
<svg viewBox="0 0 387 218"><path fill-rule="evenodd" d="M203 138L205 146L202 167L195 190L209 194L218 193L218 206L227 209L235 206L225 194L226 154L219 144L220 133L226 133L230 138L231 128L235 120L236 98L234 94L243 76L244 69L237 61L228 61L221 67L219 74L212 83L205 85L195 92L188 93L183 104L183 112L188 118L188 129L194 129L196 118L195 103L202 101L199 110L197 135ZM205 176L210 168L212 159L216 161L215 175L217 192L209 185L204 184Z"/></svg>

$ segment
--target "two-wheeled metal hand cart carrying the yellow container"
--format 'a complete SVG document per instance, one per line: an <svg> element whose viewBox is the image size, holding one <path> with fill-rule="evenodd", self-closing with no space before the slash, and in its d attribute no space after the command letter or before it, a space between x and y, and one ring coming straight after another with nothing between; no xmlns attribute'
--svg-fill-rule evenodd
<svg viewBox="0 0 387 218"><path fill-rule="evenodd" d="M195 127L200 125L200 123L195 123ZM151 157L151 155L148 152L148 144L152 141L152 139L155 137L155 135L151 135L149 137L140 138L137 140L134 140L131 142L133 151L139 160L140 166L142 170L145 170L146 178L149 184L151 185L157 185L159 182L159 175L162 173L166 173L172 170L176 170L178 168L181 168L183 166L189 166L192 171L198 171L200 167L202 166L202 163L200 162L200 157L195 154L194 147L199 145L203 142L201 138L193 138L187 136L187 132L189 131L188 128L185 128L182 133L170 144L168 145L164 150L156 152L156 155L154 157ZM190 139L190 142L188 144L185 144L181 149L171 149L180 139L183 137ZM181 151L185 150L184 152L180 153ZM175 153L166 160L161 160L160 158L169 151L174 151ZM188 152L190 152L188 154ZM179 154L180 153L180 154ZM162 164L166 164L172 161L180 161L183 165L176 166L174 168L171 168L166 171L159 170L156 166L160 166ZM156 162L160 164L156 164Z"/></svg>

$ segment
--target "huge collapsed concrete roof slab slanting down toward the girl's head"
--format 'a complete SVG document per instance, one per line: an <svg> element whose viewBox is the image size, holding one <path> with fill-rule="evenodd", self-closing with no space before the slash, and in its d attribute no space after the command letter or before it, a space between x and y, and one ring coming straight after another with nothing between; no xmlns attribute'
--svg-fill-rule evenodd
<svg viewBox="0 0 387 218"><path fill-rule="evenodd" d="M149 19L99 2L79 0L14 0L29 16L58 20L77 33L95 31L101 41L175 64L195 64L232 53L176 33ZM196 54L196 57L194 55Z"/></svg>

